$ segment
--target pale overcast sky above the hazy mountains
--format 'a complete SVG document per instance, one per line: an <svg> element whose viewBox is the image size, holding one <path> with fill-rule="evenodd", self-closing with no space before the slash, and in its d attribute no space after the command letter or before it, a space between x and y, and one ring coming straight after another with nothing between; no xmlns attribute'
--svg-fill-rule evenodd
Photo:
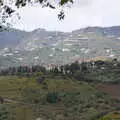
<svg viewBox="0 0 120 120"><path fill-rule="evenodd" d="M66 17L59 21L59 9L52 10L41 6L28 6L19 9L20 20L13 15L12 26L32 31L44 28L52 31L70 32L88 26L120 25L120 0L75 0L71 8L63 8Z"/></svg>

